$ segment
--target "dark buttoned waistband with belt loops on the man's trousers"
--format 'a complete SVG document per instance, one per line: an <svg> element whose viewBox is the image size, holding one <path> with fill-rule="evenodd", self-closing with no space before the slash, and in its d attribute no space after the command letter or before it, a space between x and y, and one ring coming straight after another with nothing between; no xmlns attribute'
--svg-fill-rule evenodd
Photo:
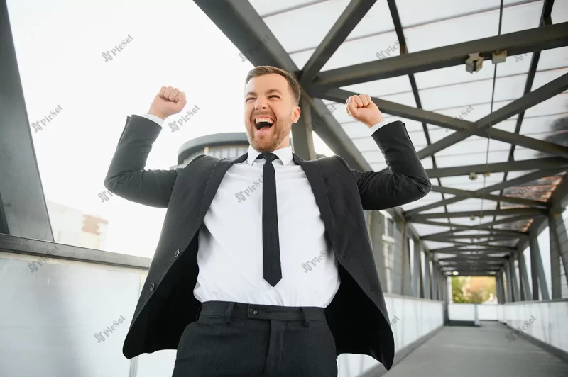
<svg viewBox="0 0 568 377"><path fill-rule="evenodd" d="M285 320L299 321L307 327L309 321L326 321L325 308L316 306L278 306L236 303L229 301L205 301L198 314L225 317L227 323L232 318L247 320Z"/></svg>

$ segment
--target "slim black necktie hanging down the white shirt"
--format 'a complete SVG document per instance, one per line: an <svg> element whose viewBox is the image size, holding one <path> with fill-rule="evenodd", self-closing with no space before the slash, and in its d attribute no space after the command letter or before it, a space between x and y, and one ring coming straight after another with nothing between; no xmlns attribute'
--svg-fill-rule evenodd
<svg viewBox="0 0 568 377"><path fill-rule="evenodd" d="M266 160L262 168L262 249L264 280L271 286L282 279L280 269L280 240L278 239L278 209L276 207L276 174L272 162L278 158L273 153L263 153L258 158Z"/></svg>

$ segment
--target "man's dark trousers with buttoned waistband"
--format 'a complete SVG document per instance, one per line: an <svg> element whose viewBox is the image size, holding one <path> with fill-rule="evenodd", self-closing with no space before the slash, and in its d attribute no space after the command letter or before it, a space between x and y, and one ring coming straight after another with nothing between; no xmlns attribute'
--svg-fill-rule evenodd
<svg viewBox="0 0 568 377"><path fill-rule="evenodd" d="M207 301L182 333L172 377L337 377L324 308Z"/></svg>

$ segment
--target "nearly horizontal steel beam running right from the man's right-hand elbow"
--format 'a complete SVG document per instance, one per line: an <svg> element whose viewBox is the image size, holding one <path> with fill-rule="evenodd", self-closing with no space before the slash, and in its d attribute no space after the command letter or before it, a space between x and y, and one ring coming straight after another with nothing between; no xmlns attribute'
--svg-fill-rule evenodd
<svg viewBox="0 0 568 377"><path fill-rule="evenodd" d="M426 173L428 174L428 177L432 179L444 178L447 176L466 176L469 173L503 173L507 171L552 169L555 167L568 168L568 159L563 157L545 157L540 159L525 159L522 161L468 165L464 167L442 167L437 169L426 169Z"/></svg>

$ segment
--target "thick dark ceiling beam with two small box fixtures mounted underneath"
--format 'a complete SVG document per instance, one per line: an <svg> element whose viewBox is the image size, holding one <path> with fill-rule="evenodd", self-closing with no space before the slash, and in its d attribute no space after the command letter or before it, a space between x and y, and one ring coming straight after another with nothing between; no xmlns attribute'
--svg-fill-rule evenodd
<svg viewBox="0 0 568 377"><path fill-rule="evenodd" d="M341 86L453 67L465 64L469 54L475 52L481 52L484 60L488 60L491 59L491 52L498 50L507 50L507 54L513 56L566 45L568 45L568 23L557 23L349 67L330 69L320 72L311 87L317 91L326 91Z"/></svg>

